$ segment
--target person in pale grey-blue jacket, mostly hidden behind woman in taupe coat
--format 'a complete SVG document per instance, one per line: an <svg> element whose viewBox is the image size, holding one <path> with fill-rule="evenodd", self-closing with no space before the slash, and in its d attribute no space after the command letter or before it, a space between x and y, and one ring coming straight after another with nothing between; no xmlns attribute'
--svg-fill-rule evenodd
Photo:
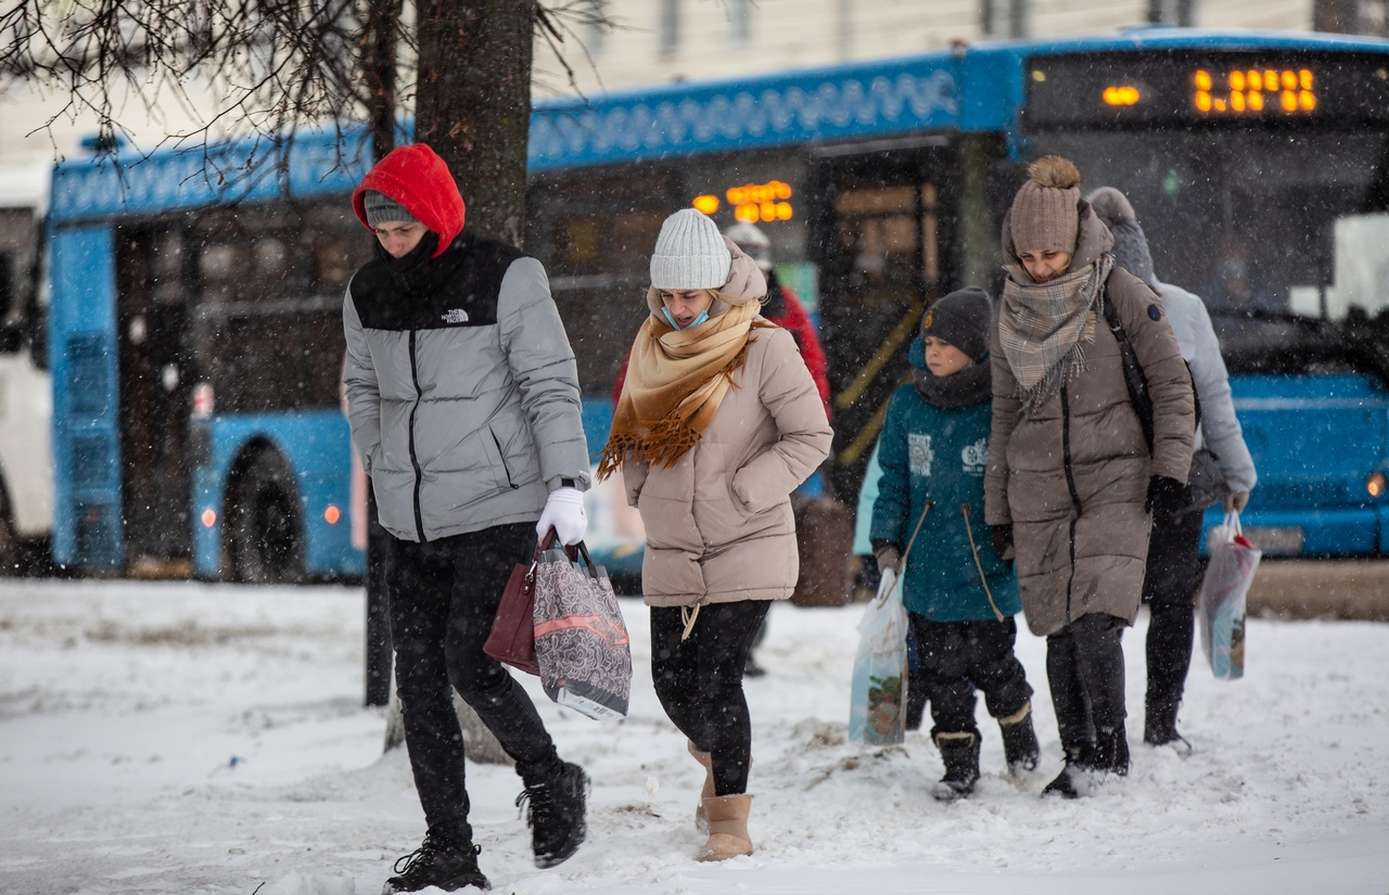
<svg viewBox="0 0 1389 895"><path fill-rule="evenodd" d="M1153 513L1147 573L1143 577L1143 601L1150 616L1143 742L1156 747L1171 744L1185 753L1190 751L1190 744L1176 731L1176 709L1192 665L1201 518L1213 500L1220 500L1226 513L1243 511L1258 479L1235 416L1229 375L1206 305L1185 289L1157 279L1147 236L1124 193L1104 186L1090 193L1088 201L1114 235L1114 264L1161 297L1182 358L1190 368L1200 405L1190 477L1193 502ZM1211 484L1217 487L1204 498L1197 490L1201 470L1213 470Z"/></svg>

